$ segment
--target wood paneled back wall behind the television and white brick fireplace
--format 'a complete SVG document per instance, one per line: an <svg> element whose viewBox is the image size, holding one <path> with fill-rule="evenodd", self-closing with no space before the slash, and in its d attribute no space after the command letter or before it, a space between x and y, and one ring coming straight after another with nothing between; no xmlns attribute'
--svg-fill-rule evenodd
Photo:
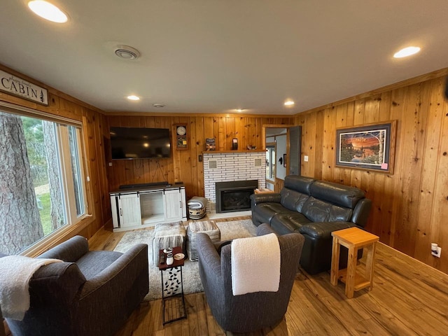
<svg viewBox="0 0 448 336"><path fill-rule="evenodd" d="M239 150L248 145L262 148L262 125L293 123L293 118L268 118L260 116L109 116L110 127L160 127L172 132L172 158L114 160L108 167L109 188L120 185L168 181L182 181L187 199L204 196L204 169L198 156L205 149L205 139L216 139L216 151L230 151L232 139L238 139ZM175 148L174 125L188 125L188 150ZM110 153L107 151L108 160Z"/></svg>

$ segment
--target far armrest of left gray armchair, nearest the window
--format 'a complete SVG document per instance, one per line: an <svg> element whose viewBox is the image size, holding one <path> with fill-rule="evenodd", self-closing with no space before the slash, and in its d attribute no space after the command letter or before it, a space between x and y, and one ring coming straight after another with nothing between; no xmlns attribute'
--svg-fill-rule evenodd
<svg viewBox="0 0 448 336"><path fill-rule="evenodd" d="M76 262L89 251L89 243L82 236L75 236L67 241L42 253L37 258L59 259L67 262Z"/></svg>

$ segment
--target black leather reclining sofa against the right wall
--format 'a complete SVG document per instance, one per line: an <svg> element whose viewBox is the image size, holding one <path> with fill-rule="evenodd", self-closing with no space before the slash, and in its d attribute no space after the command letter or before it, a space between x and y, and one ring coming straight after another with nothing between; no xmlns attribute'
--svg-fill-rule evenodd
<svg viewBox="0 0 448 336"><path fill-rule="evenodd" d="M331 232L367 223L372 202L358 188L286 176L280 193L251 195L252 221L271 225L279 235L300 232L305 237L300 265L309 274L331 268ZM360 250L358 258L362 257ZM347 250L341 249L339 267L346 267Z"/></svg>

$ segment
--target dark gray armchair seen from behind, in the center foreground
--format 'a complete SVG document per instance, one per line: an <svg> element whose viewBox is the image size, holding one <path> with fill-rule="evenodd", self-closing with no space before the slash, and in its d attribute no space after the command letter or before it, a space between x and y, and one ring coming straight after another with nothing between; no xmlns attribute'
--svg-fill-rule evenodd
<svg viewBox="0 0 448 336"><path fill-rule="evenodd" d="M257 228L257 235L274 232L269 225ZM299 233L279 236L281 253L280 286L277 292L232 294L232 266L230 244L221 248L209 236L197 234L199 270L207 303L216 321L226 331L251 332L275 325L286 313L295 274L299 267L304 237Z"/></svg>

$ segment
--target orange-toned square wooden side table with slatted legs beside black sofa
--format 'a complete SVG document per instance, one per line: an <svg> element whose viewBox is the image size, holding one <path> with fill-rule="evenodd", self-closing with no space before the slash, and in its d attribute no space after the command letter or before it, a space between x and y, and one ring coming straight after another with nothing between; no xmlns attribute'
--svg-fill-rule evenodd
<svg viewBox="0 0 448 336"><path fill-rule="evenodd" d="M355 290L369 288L373 286L373 269L375 247L379 237L372 235L370 232L360 230L359 228L349 228L331 232L333 237L332 259L331 259L331 278L330 282L333 286L337 285L340 279L345 283L346 297L353 297ZM349 260L346 269L339 269L339 252L340 246L349 249ZM367 260L365 262L365 277L356 274L356 262L358 250L364 248L367 251Z"/></svg>

